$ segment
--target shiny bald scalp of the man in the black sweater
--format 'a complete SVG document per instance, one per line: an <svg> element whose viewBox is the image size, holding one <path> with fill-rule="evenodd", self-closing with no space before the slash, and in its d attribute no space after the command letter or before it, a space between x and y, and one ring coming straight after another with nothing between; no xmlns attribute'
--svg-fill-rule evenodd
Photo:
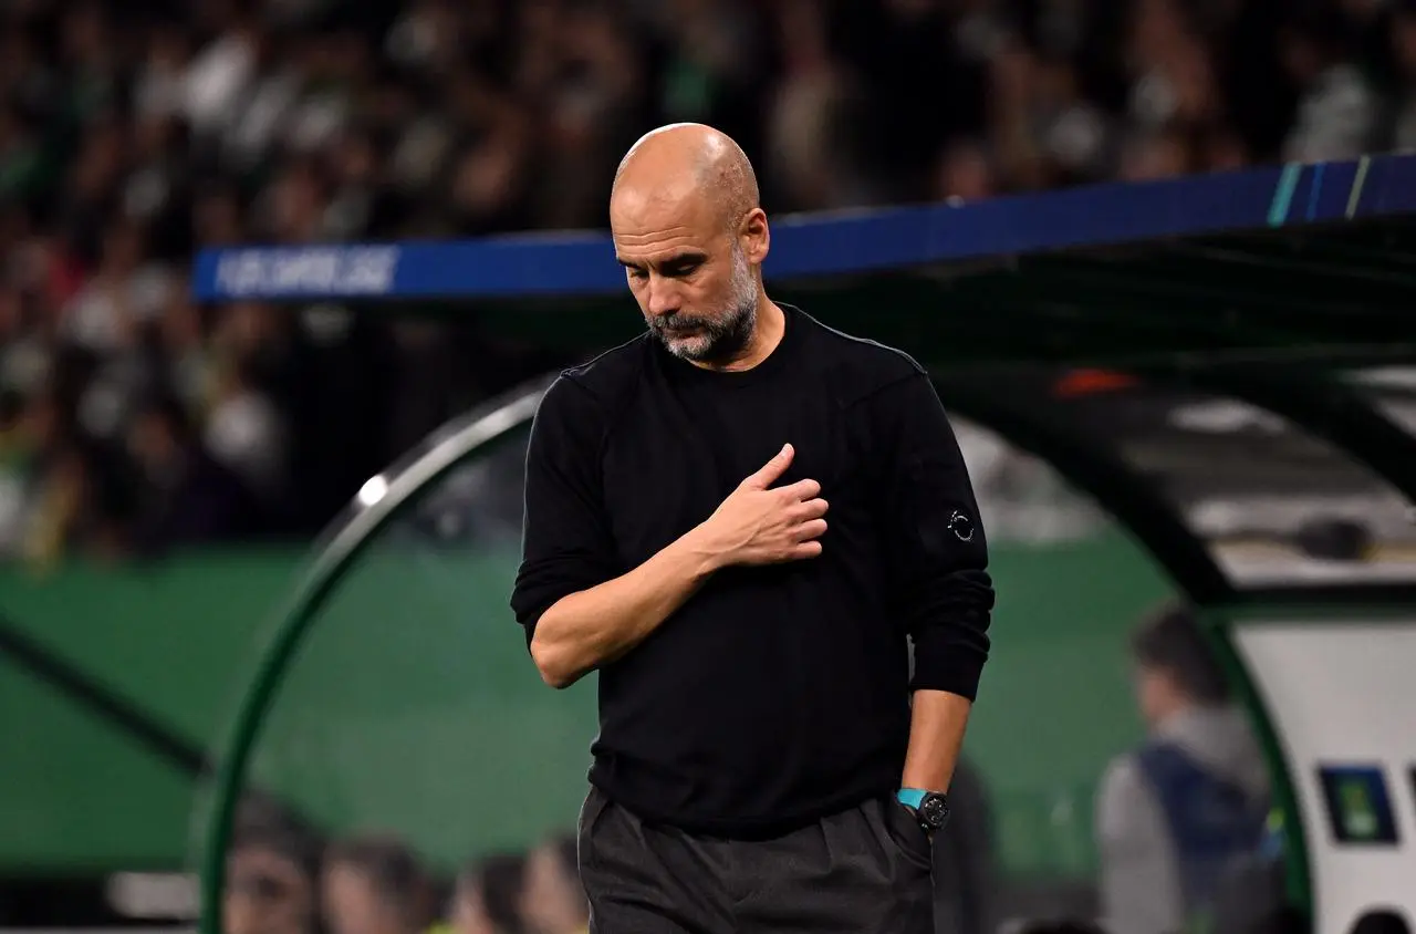
<svg viewBox="0 0 1416 934"><path fill-rule="evenodd" d="M728 230L758 207L758 176L731 136L702 123L671 123L641 136L615 173L610 211L650 198L700 201Z"/></svg>

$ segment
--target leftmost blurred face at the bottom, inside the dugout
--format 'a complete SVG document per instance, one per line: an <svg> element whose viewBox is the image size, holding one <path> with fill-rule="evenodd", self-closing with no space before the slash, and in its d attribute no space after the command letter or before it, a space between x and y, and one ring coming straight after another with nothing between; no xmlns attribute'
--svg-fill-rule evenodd
<svg viewBox="0 0 1416 934"><path fill-rule="evenodd" d="M314 884L289 859L265 849L231 855L222 930L227 934L309 934Z"/></svg>

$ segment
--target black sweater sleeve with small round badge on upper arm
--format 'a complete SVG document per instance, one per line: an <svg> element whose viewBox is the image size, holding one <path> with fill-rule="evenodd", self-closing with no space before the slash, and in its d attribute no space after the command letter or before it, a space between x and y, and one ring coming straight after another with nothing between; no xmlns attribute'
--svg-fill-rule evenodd
<svg viewBox="0 0 1416 934"><path fill-rule="evenodd" d="M988 659L994 590L959 441L923 371L881 390L872 408L886 456L896 612L915 643L912 686L973 700Z"/></svg>

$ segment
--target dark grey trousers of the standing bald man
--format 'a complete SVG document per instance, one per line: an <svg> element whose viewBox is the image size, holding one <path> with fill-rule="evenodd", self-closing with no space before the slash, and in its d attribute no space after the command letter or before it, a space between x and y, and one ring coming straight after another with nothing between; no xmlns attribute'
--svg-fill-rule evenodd
<svg viewBox="0 0 1416 934"><path fill-rule="evenodd" d="M893 799L749 842L649 825L592 789L579 840L590 934L933 934L930 842Z"/></svg>

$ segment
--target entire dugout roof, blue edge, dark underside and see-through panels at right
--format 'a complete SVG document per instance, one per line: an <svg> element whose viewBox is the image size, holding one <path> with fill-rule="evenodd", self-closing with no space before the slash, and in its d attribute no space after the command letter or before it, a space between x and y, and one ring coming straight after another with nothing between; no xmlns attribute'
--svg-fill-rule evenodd
<svg viewBox="0 0 1416 934"><path fill-rule="evenodd" d="M1416 157L773 221L776 298L903 347L1201 602L1416 598ZM603 231L210 251L208 302L377 302L592 351Z"/></svg>

